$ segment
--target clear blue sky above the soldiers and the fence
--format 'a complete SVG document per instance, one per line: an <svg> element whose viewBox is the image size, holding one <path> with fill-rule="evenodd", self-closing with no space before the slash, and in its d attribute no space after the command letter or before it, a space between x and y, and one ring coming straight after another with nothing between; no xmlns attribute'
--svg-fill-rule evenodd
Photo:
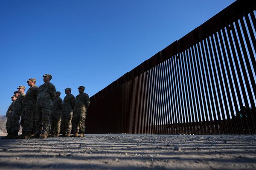
<svg viewBox="0 0 256 170"><path fill-rule="evenodd" d="M234 0L1 0L0 115L28 78L92 96Z"/></svg>

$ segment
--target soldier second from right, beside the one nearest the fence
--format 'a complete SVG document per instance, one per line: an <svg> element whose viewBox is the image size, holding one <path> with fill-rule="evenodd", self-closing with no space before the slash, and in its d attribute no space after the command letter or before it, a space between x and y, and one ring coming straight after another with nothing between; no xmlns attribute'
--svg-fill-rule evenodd
<svg viewBox="0 0 256 170"><path fill-rule="evenodd" d="M73 110L75 107L75 96L71 94L71 88L65 89L66 96L64 97L63 102L63 111L62 111L62 118L61 121L63 121L62 125L64 125L63 128L63 134L61 137L69 137L71 132L71 120L73 116Z"/></svg>

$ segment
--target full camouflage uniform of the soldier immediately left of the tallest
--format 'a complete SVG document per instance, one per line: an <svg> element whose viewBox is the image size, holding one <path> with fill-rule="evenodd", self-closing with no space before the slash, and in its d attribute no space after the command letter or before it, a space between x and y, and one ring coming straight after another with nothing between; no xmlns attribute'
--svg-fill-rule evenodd
<svg viewBox="0 0 256 170"><path fill-rule="evenodd" d="M34 85L29 88L26 92L24 99L24 121L23 121L23 132L34 132L35 131L35 104L38 95L38 86Z"/></svg>

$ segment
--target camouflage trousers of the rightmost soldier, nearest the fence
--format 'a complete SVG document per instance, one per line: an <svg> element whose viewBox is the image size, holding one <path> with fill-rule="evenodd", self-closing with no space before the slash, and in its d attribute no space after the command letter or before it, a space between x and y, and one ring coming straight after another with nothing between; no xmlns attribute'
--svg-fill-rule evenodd
<svg viewBox="0 0 256 170"><path fill-rule="evenodd" d="M86 112L73 113L74 133L85 132Z"/></svg>

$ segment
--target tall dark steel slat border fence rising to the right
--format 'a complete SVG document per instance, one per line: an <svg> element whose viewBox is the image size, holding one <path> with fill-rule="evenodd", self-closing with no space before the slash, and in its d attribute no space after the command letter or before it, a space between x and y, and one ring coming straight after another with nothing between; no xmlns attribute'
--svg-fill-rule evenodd
<svg viewBox="0 0 256 170"><path fill-rule="evenodd" d="M255 8L234 2L92 96L87 133L255 134Z"/></svg>

